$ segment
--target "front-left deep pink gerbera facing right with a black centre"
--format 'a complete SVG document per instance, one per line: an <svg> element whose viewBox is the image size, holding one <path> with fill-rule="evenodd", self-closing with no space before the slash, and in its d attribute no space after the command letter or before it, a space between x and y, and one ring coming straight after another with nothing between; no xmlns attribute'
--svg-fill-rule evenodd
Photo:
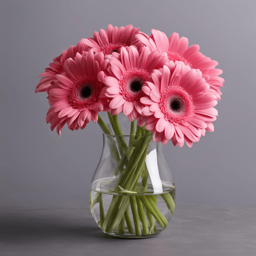
<svg viewBox="0 0 256 256"><path fill-rule="evenodd" d="M72 131L84 129L91 119L97 122L98 112L109 111L109 102L102 90L105 74L100 64L103 62L103 53L94 55L92 50L83 55L77 53L75 60L67 59L65 72L56 75L49 90L51 107L46 121L51 123L52 130L57 127L60 134L66 123Z"/></svg>

